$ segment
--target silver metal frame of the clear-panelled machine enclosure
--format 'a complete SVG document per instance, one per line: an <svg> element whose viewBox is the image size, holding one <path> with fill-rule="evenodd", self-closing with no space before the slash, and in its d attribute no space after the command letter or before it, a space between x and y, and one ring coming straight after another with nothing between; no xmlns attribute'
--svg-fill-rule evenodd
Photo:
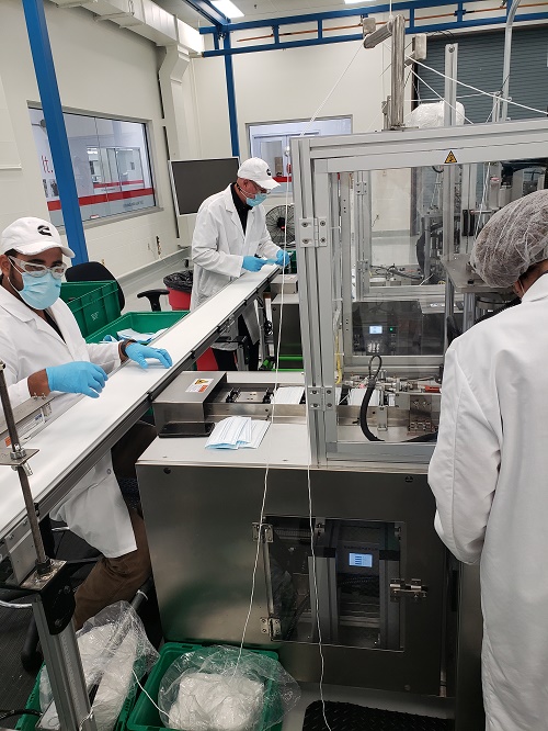
<svg viewBox="0 0 548 731"><path fill-rule="evenodd" d="M343 372L352 369L365 373L368 362L368 358L355 355L352 348L353 210L357 212L354 229L358 233L364 233L365 221L370 218L359 212L363 203L354 202L354 191L363 199L367 176L375 170L442 166L448 170L446 178L450 181L457 166L546 157L547 132L545 120L534 120L292 140L302 355L313 462L331 464L351 459L426 463L433 450L427 443L345 441L338 427L334 400L338 360ZM357 185L353 185L354 181ZM450 262L458 257L453 238L446 234L453 232L447 221L455 215L447 184L444 184L443 214L444 256ZM367 247L364 249L363 244L356 243L355 250L358 280ZM364 289L356 288L358 296ZM453 311L455 292L464 299L465 327L469 326L473 322L477 289L448 286L446 313ZM412 294L416 295L416 286L399 286L393 296ZM388 356L383 360L393 373L425 373L442 364L443 352Z"/></svg>

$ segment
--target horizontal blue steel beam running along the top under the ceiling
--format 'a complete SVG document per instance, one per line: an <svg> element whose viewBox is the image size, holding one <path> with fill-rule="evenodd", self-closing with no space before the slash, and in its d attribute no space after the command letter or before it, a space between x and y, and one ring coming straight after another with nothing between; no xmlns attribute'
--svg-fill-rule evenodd
<svg viewBox="0 0 548 731"><path fill-rule="evenodd" d="M457 9L453 10L450 12L452 15L456 18L455 21L450 22L439 22L439 23L431 23L429 25L426 24L416 24L416 22L421 21L421 19L416 19L415 16L415 10L419 8L439 8L444 4L448 5L455 5L457 4ZM358 9L352 9L352 10L338 10L338 11L331 11L331 12L326 12L326 13L313 13L310 15L290 15L286 18L276 18L276 19L271 19L271 20L262 20L262 21L249 21L246 23L231 23L229 29L226 29L229 33L232 33L235 31L246 31L246 30L254 30L254 29L269 29L272 32L273 36L273 43L264 43L261 45L253 45L253 46L246 46L242 48L227 48L225 47L224 49L219 48L218 43L215 43L215 49L214 50L205 50L203 53L204 57L209 57L209 56L227 56L228 54L230 55L236 55L236 54L246 54L246 53L258 53L260 50L278 50L278 49L284 49L284 48L297 48L297 47L302 47L302 46L318 46L318 45L326 45L326 44L332 44L332 43L344 43L349 41L358 41L362 38L362 33L356 33L356 34L347 34L347 35L326 35L326 32L329 29L323 27L322 23L324 20L331 20L333 18L349 18L349 16L367 16L372 14L377 14L377 13L386 13L390 11L390 5L389 4L377 4L377 5L367 5ZM467 11L465 8L465 3L463 0L459 0L458 3L444 3L439 2L439 0L412 0L409 2L395 2L391 5L391 11L392 12L408 12L409 13L409 24L406 29L407 33L432 33L434 31L458 31L461 29L466 27L480 27L481 25L496 25L496 24L504 24L506 22L506 14L504 15L498 15L495 18L490 18L490 19L482 19L481 21L479 20L472 20L473 12L475 11ZM527 13L527 14L521 14L516 16L516 22L523 22L523 21L536 21L536 20L547 20L548 19L548 12L539 12L539 13ZM316 38L307 38L307 40L301 40L301 41L281 41L279 38L283 36L283 32L281 33L281 26L290 26L294 24L302 24L302 23L317 23L317 33L318 37ZM199 29L199 32L203 35L206 34L216 34L216 29L213 27L202 27ZM288 35L290 32L288 32ZM297 32L295 32L295 35Z"/></svg>

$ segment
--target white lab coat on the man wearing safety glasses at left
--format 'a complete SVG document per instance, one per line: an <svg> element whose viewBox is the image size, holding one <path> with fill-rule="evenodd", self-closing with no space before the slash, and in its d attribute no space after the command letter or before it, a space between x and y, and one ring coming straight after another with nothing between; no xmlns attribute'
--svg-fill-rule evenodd
<svg viewBox="0 0 548 731"><path fill-rule="evenodd" d="M65 302L57 300L49 312L65 341L44 319L0 286L0 359L5 363L12 406L31 397L26 379L43 368L87 360L109 372L119 364L117 344L87 345ZM67 411L80 397L57 394L52 402L53 415ZM107 558L124 555L137 548L110 454L75 485L50 515L56 520L65 520L77 536Z"/></svg>

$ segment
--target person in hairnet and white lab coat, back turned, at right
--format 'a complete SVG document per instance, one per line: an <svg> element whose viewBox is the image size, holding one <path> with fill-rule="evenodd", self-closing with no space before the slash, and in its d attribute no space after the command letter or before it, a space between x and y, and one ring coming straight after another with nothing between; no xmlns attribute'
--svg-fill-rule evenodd
<svg viewBox="0 0 548 731"><path fill-rule="evenodd" d="M489 731L548 728L548 191L510 203L471 263L522 299L453 341L429 470L435 526L480 563Z"/></svg>

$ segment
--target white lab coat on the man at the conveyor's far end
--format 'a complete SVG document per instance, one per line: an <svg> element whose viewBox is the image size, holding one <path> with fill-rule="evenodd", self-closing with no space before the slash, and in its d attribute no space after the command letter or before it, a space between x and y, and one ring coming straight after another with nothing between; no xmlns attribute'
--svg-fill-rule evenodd
<svg viewBox="0 0 548 731"><path fill-rule="evenodd" d="M217 294L224 286L246 272L243 257L259 254L275 259L279 247L272 243L266 229L263 205L248 212L246 236L232 200L230 185L207 198L198 209L192 238L194 277L191 310ZM259 322L254 303L243 312L252 342L259 340ZM236 346L215 344L216 348L233 350Z"/></svg>

